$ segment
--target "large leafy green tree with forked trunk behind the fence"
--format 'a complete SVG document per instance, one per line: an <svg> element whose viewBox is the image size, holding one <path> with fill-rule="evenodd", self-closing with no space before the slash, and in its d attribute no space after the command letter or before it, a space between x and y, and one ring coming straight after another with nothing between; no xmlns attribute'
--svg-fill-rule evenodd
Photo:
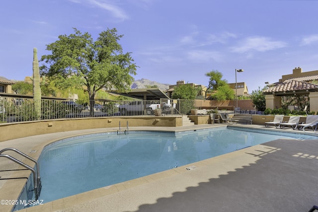
<svg viewBox="0 0 318 212"><path fill-rule="evenodd" d="M118 43L123 35L117 35L115 28L101 32L95 41L87 32L74 31L47 45L52 54L42 56L41 73L54 79L58 88L84 88L93 111L96 92L102 88L129 90L137 66L130 52L123 53Z"/></svg>

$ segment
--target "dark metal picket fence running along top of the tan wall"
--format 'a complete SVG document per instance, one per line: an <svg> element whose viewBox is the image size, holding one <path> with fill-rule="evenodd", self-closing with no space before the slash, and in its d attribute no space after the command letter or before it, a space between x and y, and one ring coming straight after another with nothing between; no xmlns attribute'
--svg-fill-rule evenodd
<svg viewBox="0 0 318 212"><path fill-rule="evenodd" d="M81 117L168 116L189 114L194 100L160 99L135 101L94 100L85 104L61 99L41 99L41 111L32 98L0 96L0 123Z"/></svg>

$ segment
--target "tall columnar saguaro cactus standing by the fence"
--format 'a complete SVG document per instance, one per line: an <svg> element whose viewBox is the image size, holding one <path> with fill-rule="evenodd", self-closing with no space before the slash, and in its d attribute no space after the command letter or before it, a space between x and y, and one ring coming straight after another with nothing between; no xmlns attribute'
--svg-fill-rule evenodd
<svg viewBox="0 0 318 212"><path fill-rule="evenodd" d="M41 87L40 87L40 69L37 55L37 49L33 48L33 101L35 107L36 120L41 119Z"/></svg>

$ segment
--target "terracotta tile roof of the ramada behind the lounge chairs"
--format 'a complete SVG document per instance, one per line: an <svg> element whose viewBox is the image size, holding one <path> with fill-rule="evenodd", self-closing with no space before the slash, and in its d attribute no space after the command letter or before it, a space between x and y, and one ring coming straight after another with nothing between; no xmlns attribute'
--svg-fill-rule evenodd
<svg viewBox="0 0 318 212"><path fill-rule="evenodd" d="M309 83L309 82L298 81L295 79L289 79L289 80L285 80L282 83L277 84L274 87L265 89L263 93L288 92L288 91L299 91L299 90L318 90L318 85Z"/></svg>

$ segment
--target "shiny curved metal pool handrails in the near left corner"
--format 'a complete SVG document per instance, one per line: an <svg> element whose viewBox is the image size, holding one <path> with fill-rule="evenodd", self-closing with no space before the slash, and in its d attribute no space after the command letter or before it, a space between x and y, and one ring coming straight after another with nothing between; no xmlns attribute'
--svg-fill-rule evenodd
<svg viewBox="0 0 318 212"><path fill-rule="evenodd" d="M10 156L10 155L7 155L7 154L2 154L2 152L4 151L8 151L8 150L11 150L11 151L15 151L16 153L26 157L27 159L33 161L35 164L36 164L36 171L34 170L34 168L26 165L25 163L21 162L20 160ZM41 193L41 188L42 188L42 185L41 185L41 178L40 178L40 165L39 165L39 162L35 159L33 159L32 157L24 154L23 152L15 149L15 148L4 148L2 150L0 150L0 157L6 157L10 160L12 160L13 162L16 162L17 164L27 168L28 170L32 171L33 173L33 185L34 185L34 194L35 194L35 200L38 200L39 196L40 196L40 193Z"/></svg>

